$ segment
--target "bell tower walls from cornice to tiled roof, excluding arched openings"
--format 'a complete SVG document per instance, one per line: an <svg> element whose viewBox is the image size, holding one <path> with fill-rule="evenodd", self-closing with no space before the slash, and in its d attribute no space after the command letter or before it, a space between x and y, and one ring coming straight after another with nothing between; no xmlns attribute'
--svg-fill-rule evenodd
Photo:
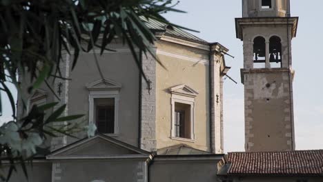
<svg viewBox="0 0 323 182"><path fill-rule="evenodd" d="M254 22L255 19L246 21ZM244 41L245 149L253 151L295 150L293 75L291 70L292 24L288 19L260 19L263 24L242 26ZM265 24L266 23L266 24ZM271 37L279 37L282 63L253 63L253 40L263 37L266 51ZM241 37L240 37L241 38ZM268 54L266 56L269 61ZM273 68L276 66L277 68ZM271 68L272 67L272 68Z"/></svg>

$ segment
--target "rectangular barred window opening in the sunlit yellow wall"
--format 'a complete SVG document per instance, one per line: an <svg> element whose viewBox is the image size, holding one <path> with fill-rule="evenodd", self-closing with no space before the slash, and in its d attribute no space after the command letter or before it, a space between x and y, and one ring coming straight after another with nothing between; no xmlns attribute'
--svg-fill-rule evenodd
<svg viewBox="0 0 323 182"><path fill-rule="evenodd" d="M175 102L175 137L190 139L190 105Z"/></svg>

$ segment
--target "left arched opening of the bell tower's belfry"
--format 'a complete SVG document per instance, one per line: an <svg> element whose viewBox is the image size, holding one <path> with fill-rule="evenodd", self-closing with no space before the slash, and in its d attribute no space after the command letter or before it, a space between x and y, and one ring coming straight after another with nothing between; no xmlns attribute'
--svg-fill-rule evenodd
<svg viewBox="0 0 323 182"><path fill-rule="evenodd" d="M264 37L253 39L253 68L265 68L266 40Z"/></svg>

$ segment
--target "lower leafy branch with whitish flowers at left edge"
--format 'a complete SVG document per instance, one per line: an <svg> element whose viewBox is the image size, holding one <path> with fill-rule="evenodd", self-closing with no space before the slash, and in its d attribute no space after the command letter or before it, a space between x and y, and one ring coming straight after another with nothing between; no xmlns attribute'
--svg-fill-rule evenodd
<svg viewBox="0 0 323 182"><path fill-rule="evenodd" d="M79 119L84 115L59 117L66 105L62 105L45 119L46 110L51 110L55 105L57 103L34 105L28 115L20 121L10 121L1 125L0 157L1 161L8 161L10 163L8 176L5 177L0 174L3 181L9 179L13 171L17 171L15 166L17 161L21 164L25 175L28 176L25 161L29 161L33 156L41 154L39 151L49 150L47 146L43 145L48 136L56 137L61 134L75 137L72 135L73 133L85 129L85 127L81 127L81 123L68 123L68 121ZM96 129L95 125L89 125L87 128L90 127L92 132L88 133L88 135L93 136Z"/></svg>

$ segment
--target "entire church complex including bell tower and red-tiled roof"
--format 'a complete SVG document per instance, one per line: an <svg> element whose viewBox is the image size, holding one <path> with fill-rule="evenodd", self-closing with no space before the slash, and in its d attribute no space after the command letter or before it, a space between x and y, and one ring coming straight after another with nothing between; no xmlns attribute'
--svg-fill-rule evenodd
<svg viewBox="0 0 323 182"><path fill-rule="evenodd" d="M298 17L289 0L243 0L242 7L235 25L243 41L246 152L224 154L228 48L142 19L157 37L160 61L142 54L146 79L115 39L108 45L115 52L81 52L73 71L66 52L59 66L69 79L55 79L55 93L43 85L30 95L30 107L59 102L67 104L64 116L85 114L75 122L95 123L97 134L50 139L50 151L28 166L29 181L323 181L323 150L295 151L291 40ZM26 178L18 169L10 181Z"/></svg>

